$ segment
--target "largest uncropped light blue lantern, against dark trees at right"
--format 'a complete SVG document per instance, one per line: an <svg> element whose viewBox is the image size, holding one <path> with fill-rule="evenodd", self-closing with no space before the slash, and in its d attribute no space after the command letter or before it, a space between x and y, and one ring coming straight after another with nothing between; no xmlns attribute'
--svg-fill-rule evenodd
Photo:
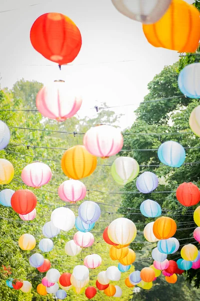
<svg viewBox="0 0 200 301"><path fill-rule="evenodd" d="M185 160L185 150L178 142L166 141L159 146L157 156L165 165L180 167Z"/></svg>

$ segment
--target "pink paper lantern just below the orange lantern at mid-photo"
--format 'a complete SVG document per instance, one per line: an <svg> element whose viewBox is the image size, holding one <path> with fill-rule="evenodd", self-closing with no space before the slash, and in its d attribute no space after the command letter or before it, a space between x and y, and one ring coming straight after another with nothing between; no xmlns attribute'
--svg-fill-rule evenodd
<svg viewBox="0 0 200 301"><path fill-rule="evenodd" d="M58 195L64 202L76 203L84 199L86 187L78 180L67 180L59 186Z"/></svg>

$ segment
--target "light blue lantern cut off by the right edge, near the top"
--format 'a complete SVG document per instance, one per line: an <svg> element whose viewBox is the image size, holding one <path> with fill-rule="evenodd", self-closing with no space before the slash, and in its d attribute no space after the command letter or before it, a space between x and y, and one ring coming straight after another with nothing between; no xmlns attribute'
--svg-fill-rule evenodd
<svg viewBox="0 0 200 301"><path fill-rule="evenodd" d="M190 98L200 98L200 63L185 66L178 75L180 91Z"/></svg>

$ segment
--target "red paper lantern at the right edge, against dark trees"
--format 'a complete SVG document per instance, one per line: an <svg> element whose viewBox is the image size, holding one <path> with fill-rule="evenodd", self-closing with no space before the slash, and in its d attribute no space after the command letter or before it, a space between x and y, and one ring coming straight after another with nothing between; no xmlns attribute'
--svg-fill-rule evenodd
<svg viewBox="0 0 200 301"><path fill-rule="evenodd" d="M198 187L191 182L182 183L176 190L176 199L183 206L193 206L200 200L200 191Z"/></svg>

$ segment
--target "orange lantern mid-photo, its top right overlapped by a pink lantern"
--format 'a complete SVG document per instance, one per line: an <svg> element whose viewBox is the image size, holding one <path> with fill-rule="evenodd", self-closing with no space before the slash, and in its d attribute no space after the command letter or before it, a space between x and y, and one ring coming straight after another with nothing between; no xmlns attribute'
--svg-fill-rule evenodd
<svg viewBox="0 0 200 301"><path fill-rule="evenodd" d="M75 145L68 148L61 159L63 173L74 180L91 175L96 165L96 157L89 154L83 145Z"/></svg>

